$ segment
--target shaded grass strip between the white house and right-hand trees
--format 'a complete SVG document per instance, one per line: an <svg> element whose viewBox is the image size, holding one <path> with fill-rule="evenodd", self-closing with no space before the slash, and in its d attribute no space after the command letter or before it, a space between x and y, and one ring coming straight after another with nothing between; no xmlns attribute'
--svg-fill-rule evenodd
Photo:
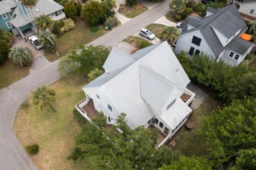
<svg viewBox="0 0 256 170"><path fill-rule="evenodd" d="M213 94L209 94L209 99L204 101L199 109L194 110L190 118L190 121L194 124L193 129L182 127L181 131L174 138L177 144L173 147L173 150L179 150L186 156L207 156L209 152L205 146L205 141L203 141L198 132L200 118L208 116L213 109L217 109L219 106L222 106L221 101L215 99Z"/></svg>

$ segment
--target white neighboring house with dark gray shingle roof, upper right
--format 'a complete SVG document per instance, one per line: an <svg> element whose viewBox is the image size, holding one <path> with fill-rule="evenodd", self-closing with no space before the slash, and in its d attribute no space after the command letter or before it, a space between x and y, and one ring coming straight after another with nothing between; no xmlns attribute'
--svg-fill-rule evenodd
<svg viewBox="0 0 256 170"><path fill-rule="evenodd" d="M236 66L254 48L253 43L240 38L247 26L235 5L218 10L208 7L203 18L189 16L179 29L175 52L188 52L190 57L203 52Z"/></svg>

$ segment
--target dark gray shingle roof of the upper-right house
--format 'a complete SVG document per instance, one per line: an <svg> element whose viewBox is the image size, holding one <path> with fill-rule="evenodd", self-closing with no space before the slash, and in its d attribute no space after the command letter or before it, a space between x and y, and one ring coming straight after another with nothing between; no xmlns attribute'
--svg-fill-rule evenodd
<svg viewBox="0 0 256 170"><path fill-rule="evenodd" d="M212 11L212 9L209 10ZM193 23L196 22L198 24L198 27L187 30L187 24L190 24L190 20L192 20ZM219 56L219 54L221 54L221 52L223 52L224 49L226 49L226 46L223 46L223 44L221 44L221 41L219 41L219 38L217 37L213 28L217 29L217 31L224 35L224 37L229 39L240 30L240 33L238 33L238 35L236 36L236 38L239 38L239 36L247 29L247 26L245 25L244 20L236 9L236 6L228 5L222 9L217 10L217 13L211 16L203 18L196 18L195 16L190 16L186 18L186 20L182 23L181 28L184 29L184 31L181 33L181 36L184 36L188 33L193 33L195 31L200 31L203 39L205 39L207 45L209 46L209 48L213 52L213 55L216 58L217 56ZM235 41L236 38L230 41L232 45L238 43L238 41ZM239 46L239 44L236 44L236 46ZM238 50L239 48L234 48L234 52L237 52Z"/></svg>

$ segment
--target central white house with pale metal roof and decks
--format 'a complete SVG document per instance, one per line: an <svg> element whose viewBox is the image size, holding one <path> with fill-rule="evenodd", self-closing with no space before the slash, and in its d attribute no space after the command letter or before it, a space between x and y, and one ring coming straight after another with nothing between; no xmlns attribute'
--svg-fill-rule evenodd
<svg viewBox="0 0 256 170"><path fill-rule="evenodd" d="M153 125L169 139L192 113L195 94L186 89L190 80L167 42L133 55L113 48L103 68L103 75L83 87L86 99L76 105L87 120L82 108L93 100L108 124L125 112L132 129Z"/></svg>

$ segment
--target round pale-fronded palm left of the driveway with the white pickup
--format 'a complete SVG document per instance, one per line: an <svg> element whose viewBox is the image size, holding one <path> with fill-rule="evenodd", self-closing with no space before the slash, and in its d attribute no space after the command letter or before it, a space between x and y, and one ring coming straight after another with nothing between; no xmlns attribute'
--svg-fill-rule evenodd
<svg viewBox="0 0 256 170"><path fill-rule="evenodd" d="M11 48L11 52L9 52L9 58L12 59L14 63L18 63L22 67L25 67L32 61L32 52L28 47L14 46Z"/></svg>

